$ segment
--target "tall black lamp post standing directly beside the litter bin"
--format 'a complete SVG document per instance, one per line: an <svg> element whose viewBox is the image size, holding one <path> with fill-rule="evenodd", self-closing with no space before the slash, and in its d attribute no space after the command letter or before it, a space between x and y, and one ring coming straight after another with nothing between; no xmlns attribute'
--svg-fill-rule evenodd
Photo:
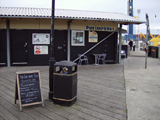
<svg viewBox="0 0 160 120"><path fill-rule="evenodd" d="M51 40L50 40L50 59L49 59L49 100L53 100L53 67L55 64L54 59L54 12L55 0L52 0L52 16L51 16Z"/></svg>

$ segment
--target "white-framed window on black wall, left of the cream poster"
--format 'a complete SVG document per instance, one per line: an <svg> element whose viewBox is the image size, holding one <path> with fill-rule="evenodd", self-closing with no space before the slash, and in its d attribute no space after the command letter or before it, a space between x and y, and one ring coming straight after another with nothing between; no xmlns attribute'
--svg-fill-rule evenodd
<svg viewBox="0 0 160 120"><path fill-rule="evenodd" d="M72 46L84 46L84 30L72 30Z"/></svg>

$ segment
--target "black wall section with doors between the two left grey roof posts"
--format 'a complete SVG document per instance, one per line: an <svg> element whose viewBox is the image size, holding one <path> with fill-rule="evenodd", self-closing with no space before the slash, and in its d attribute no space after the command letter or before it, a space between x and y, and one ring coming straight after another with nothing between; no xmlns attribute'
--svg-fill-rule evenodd
<svg viewBox="0 0 160 120"><path fill-rule="evenodd" d="M67 59L67 30L55 30L56 61ZM49 33L50 30L10 30L11 33L11 65L49 65L50 45L32 44L33 33ZM48 46L48 54L35 55L34 46ZM27 64L24 64L24 63ZM18 64L21 63L21 64Z"/></svg>

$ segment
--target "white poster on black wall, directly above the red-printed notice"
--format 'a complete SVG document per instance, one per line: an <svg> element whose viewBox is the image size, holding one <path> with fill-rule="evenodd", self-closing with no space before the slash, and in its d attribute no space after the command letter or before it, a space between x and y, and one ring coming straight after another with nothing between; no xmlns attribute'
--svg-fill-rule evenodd
<svg viewBox="0 0 160 120"><path fill-rule="evenodd" d="M32 44L50 44L50 34L48 33L33 33Z"/></svg>

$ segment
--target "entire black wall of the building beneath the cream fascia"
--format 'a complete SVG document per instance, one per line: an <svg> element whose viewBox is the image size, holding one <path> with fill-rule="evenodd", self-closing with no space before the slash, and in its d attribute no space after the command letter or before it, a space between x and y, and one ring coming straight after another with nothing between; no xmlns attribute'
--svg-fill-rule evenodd
<svg viewBox="0 0 160 120"><path fill-rule="evenodd" d="M5 30L1 30L4 33L3 36L0 36L0 39L3 40L3 44L6 44L5 40ZM98 42L109 35L111 32L105 31L96 31L98 34ZM49 65L50 58L50 45L48 46L48 55L34 55L34 46L32 44L32 33L49 33L50 30L10 30L10 41L11 41L11 65L19 65L13 63L26 62L27 64L22 65ZM71 31L70 31L71 33ZM87 53L89 64L93 64L95 61L94 56L92 54L95 53L106 53L106 60L111 60L113 63L116 63L116 51L117 51L117 33L114 33L103 43L95 47L89 53ZM55 47L54 47L54 55L56 61L67 60L67 30L55 30ZM24 45L27 43L27 47ZM86 50L91 48L96 43L88 42L88 31L85 31L85 46L71 46L71 61L78 57L78 54L84 53ZM3 45L5 46L5 45ZM40 45L41 46L41 45ZM3 48L3 50L2 50ZM1 47L0 53L3 53L2 59L3 61L7 61L6 47ZM26 52L27 51L27 52ZM17 53L18 52L18 53ZM24 61L26 59L26 61ZM77 61L78 62L78 61Z"/></svg>

